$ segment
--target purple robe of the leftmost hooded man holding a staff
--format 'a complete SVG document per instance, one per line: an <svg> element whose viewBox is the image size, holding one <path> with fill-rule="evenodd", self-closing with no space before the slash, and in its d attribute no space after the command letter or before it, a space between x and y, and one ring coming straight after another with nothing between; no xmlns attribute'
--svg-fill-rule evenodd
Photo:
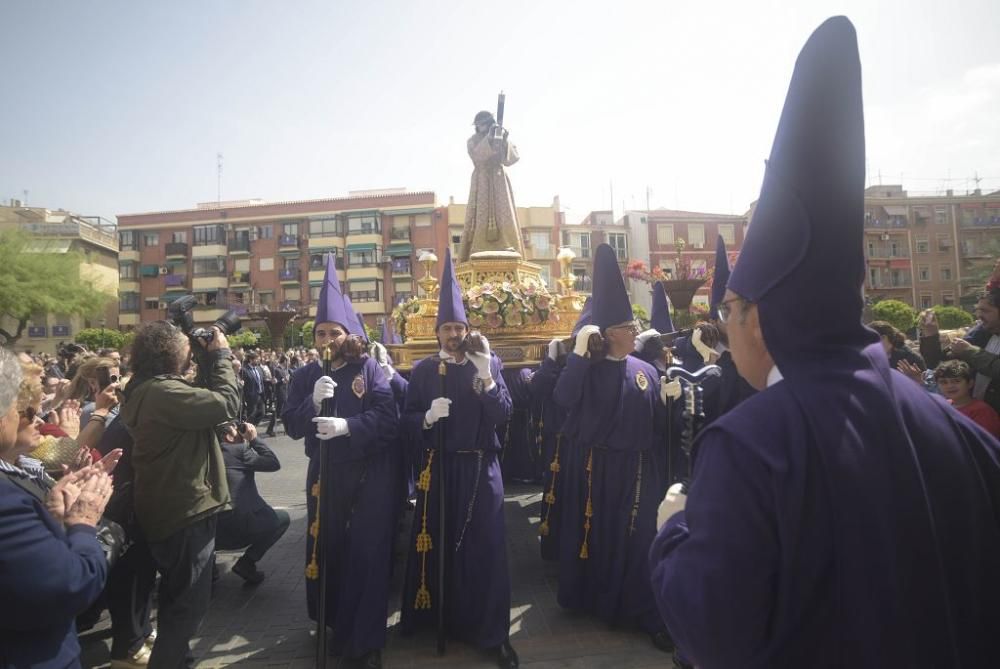
<svg viewBox="0 0 1000 669"><path fill-rule="evenodd" d="M360 657L385 646L392 541L398 512L400 456L393 452L398 419L392 390L378 364L365 358L331 374L337 383L336 415L347 419L350 434L320 442L312 393L323 376L319 363L292 374L282 421L293 439L305 438L309 527L316 518L313 484L319 477L319 449L327 448L321 490L326 525L329 588L327 625L331 649ZM306 535L306 563L314 557ZM306 579L309 617L316 619L319 580Z"/></svg>

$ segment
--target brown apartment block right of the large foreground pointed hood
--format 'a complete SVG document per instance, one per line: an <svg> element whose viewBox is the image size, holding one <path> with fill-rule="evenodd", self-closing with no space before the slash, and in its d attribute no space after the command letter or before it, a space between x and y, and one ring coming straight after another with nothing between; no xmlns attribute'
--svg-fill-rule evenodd
<svg viewBox="0 0 1000 669"><path fill-rule="evenodd" d="M984 268L1000 250L1000 192L865 191L866 295L916 308L971 308Z"/></svg>

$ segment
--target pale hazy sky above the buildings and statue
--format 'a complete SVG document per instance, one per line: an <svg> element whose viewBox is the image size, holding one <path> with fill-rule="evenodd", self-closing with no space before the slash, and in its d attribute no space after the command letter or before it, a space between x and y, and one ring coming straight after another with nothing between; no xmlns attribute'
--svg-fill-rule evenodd
<svg viewBox="0 0 1000 669"><path fill-rule="evenodd" d="M427 189L507 93L520 205L742 213L795 57L858 30L869 181L1000 189L1000 2L0 0L0 200L108 218ZM945 179L951 178L947 182Z"/></svg>

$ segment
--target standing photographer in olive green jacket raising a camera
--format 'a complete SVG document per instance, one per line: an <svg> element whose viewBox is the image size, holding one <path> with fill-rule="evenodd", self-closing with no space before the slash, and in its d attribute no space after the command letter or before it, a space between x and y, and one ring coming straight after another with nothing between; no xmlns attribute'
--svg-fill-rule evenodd
<svg viewBox="0 0 1000 669"><path fill-rule="evenodd" d="M149 666L190 666L191 637L208 610L216 520L230 508L215 426L239 411L229 343L188 337L166 321L145 323L132 344L132 380L120 420L135 442L135 515L160 572L158 635ZM198 385L184 380L192 348Z"/></svg>

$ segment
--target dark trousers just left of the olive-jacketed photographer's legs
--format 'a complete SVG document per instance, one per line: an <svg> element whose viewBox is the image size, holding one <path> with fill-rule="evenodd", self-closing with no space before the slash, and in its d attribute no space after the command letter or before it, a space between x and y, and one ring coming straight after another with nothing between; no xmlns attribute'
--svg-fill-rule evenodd
<svg viewBox="0 0 1000 669"><path fill-rule="evenodd" d="M130 657L153 631L149 614L156 585L156 564L142 536L132 544L108 576L108 612L111 614L111 659Z"/></svg>

